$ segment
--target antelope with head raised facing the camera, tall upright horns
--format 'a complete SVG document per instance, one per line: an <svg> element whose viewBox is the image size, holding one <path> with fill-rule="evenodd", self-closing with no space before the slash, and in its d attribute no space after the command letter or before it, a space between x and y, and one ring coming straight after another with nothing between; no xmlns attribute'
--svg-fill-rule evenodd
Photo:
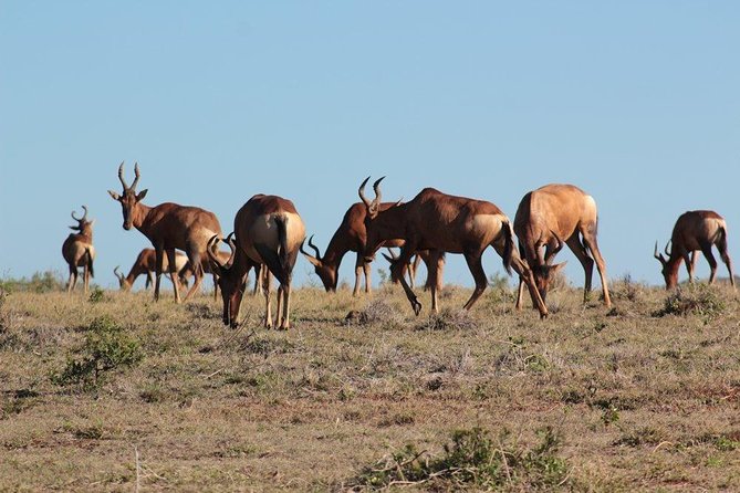
<svg viewBox="0 0 740 493"><path fill-rule="evenodd" d="M132 227L139 230L146 238L149 239L155 250L155 271L156 283L154 287L154 300L159 300L159 282L161 272L164 270L164 254L167 253L169 260L169 272L173 279L173 286L175 289L175 301L180 302L179 282L177 281L177 272L175 271L177 261L175 256L175 249L183 250L195 270L195 283L185 301L200 287L202 281L202 268L200 266L200 259L202 258L208 240L212 235L221 237L221 225L212 212L200 209L198 207L179 206L173 202L164 202L155 207L148 207L142 203L146 197L147 190L142 190L136 193L136 185L140 178L138 171L138 164L134 165L135 179L131 187L126 185L123 177L124 164L121 162L118 167L118 179L123 185L123 196L108 190L114 200L121 202L123 211L125 230L131 230Z"/></svg>

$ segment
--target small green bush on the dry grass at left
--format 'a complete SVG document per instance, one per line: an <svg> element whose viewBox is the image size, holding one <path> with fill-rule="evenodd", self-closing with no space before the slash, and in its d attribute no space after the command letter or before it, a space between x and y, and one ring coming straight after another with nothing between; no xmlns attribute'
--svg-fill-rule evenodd
<svg viewBox="0 0 740 493"><path fill-rule="evenodd" d="M87 327L84 345L67 356L66 365L51 375L51 381L92 390L103 384L110 371L133 366L143 357L138 340L125 334L112 318L98 317Z"/></svg>

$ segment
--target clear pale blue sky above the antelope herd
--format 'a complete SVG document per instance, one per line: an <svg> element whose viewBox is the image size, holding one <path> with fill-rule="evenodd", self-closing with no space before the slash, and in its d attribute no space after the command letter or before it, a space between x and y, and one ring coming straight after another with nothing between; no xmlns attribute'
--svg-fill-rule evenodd
<svg viewBox="0 0 740 493"><path fill-rule="evenodd" d="M290 198L322 251L386 175L387 200L431 186L512 219L527 191L579 185L608 275L649 283L678 214L715 209L740 265L738 25L737 1L0 0L0 275L66 273L84 203L95 282L117 286L149 245L106 192L122 160L146 203L225 232L252 195ZM492 251L484 266L502 272ZM446 279L472 285L459 255Z"/></svg>

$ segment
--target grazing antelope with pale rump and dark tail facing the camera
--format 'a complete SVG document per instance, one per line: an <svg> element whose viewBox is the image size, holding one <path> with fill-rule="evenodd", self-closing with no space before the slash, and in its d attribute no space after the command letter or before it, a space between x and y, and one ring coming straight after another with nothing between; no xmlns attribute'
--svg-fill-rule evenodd
<svg viewBox="0 0 740 493"><path fill-rule="evenodd" d="M236 240L231 239L236 235ZM299 249L305 239L303 220L290 200L277 196L256 195L244 203L233 219L233 233L226 242L231 248L229 262L223 263L213 251L219 238L208 242L208 255L218 273L218 284L223 298L223 324L237 327L239 306L250 268L262 269L265 296L264 326L272 327L270 305L270 273L278 279L278 326L290 327L290 290L293 266ZM269 271L269 272L267 272Z"/></svg>

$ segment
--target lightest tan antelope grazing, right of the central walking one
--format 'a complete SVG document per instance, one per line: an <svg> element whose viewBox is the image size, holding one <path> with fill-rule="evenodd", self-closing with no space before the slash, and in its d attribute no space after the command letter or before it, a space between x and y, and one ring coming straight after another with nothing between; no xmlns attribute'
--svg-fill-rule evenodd
<svg viewBox="0 0 740 493"><path fill-rule="evenodd" d="M520 254L532 269L543 301L553 274L565 265L565 262L552 265L552 259L563 248L564 240L586 274L584 303L591 291L595 260L604 290L604 305L607 308L612 306L606 284L606 264L596 241L597 224L598 214L593 197L573 185L545 185L527 193L519 203L514 216L514 233L519 238ZM523 287L520 281L517 310L521 310L522 302Z"/></svg>

